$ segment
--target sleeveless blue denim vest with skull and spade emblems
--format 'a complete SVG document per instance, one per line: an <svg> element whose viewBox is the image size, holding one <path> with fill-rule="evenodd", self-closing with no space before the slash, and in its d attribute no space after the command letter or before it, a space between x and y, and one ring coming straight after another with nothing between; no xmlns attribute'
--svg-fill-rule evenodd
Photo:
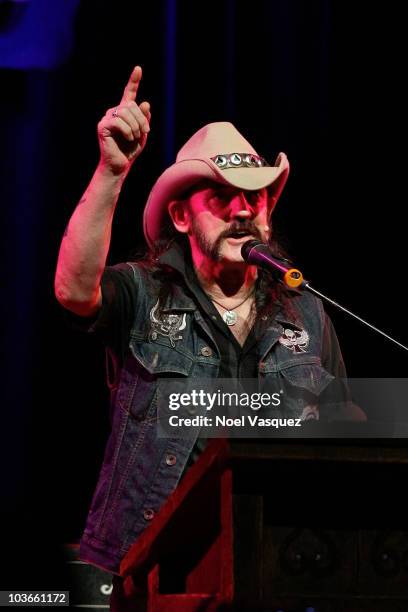
<svg viewBox="0 0 408 612"><path fill-rule="evenodd" d="M176 488L196 441L197 434L156 437L157 380L217 377L220 364L211 330L182 286L174 286L156 314L156 321L167 322L168 315L185 315L183 329L172 337L152 321L160 284L137 264L121 265L131 266L139 299L130 350L112 389L112 431L80 545L83 561L112 573L119 572L130 546ZM318 395L333 379L321 364L326 315L311 294L296 292L287 299L291 314L281 308L260 339L258 375L283 377ZM307 350L289 350L279 341L288 329L306 330Z"/></svg>

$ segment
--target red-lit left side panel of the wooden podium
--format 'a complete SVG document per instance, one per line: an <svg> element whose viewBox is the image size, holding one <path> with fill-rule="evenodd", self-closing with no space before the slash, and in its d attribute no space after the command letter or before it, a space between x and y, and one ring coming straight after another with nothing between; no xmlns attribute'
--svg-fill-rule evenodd
<svg viewBox="0 0 408 612"><path fill-rule="evenodd" d="M133 598L135 610L219 610L232 602L232 473L227 466L228 452L225 440L208 443L124 557L120 574L125 577L125 590ZM145 589L147 597L143 597Z"/></svg>

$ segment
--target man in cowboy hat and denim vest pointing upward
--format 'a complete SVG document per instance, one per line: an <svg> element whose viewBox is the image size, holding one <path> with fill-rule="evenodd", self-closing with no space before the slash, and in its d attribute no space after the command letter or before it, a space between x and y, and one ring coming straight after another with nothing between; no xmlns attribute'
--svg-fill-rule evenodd
<svg viewBox="0 0 408 612"><path fill-rule="evenodd" d="M61 244L55 290L105 340L114 365L112 433L81 558L118 573L133 541L176 488L203 443L158 439L157 381L283 377L318 395L344 374L321 303L247 265L242 244L273 244L270 216L287 179L230 123L201 128L154 185L144 211L150 256L105 269L115 205L150 131L136 103L136 67L99 123L101 158ZM315 405L296 416L318 418Z"/></svg>

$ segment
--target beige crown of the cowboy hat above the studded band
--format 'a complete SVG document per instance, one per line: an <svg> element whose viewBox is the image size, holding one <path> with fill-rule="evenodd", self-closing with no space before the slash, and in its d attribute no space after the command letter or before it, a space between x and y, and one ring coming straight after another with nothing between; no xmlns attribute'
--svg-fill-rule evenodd
<svg viewBox="0 0 408 612"><path fill-rule="evenodd" d="M208 159L223 153L253 153L255 149L228 121L209 123L183 145L177 154L176 162L188 159Z"/></svg>

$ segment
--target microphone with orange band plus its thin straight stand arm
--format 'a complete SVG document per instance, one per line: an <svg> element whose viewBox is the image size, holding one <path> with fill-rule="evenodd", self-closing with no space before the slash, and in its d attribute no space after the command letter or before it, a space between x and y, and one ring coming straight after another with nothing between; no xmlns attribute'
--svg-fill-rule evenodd
<svg viewBox="0 0 408 612"><path fill-rule="evenodd" d="M401 342L398 342L398 340L395 340L395 338L392 338L392 336L386 334L381 329L378 329L378 327L375 327L368 321L365 321L348 308L345 308L341 304L338 304L331 298L327 297L327 295L324 295L323 293L312 287L310 282L303 278L303 274L300 270L298 270L297 268L292 268L286 263L284 263L287 260L277 259L276 257L274 257L271 253L270 248L263 242L260 242L259 240L249 240L248 242L245 242L241 247L241 254L243 259L249 264L255 264L268 270L272 268L273 271L278 271L281 276L280 282L282 282L287 287L290 287L292 289L307 289L325 302L328 302L332 306L335 306L339 310L342 310L354 319L357 319L357 321L360 321L360 323L363 323L373 331L377 332L378 334L381 334L382 336L384 336L384 338L387 338L391 342L394 342L394 344L396 344L400 348L408 351L407 346L405 346Z"/></svg>

